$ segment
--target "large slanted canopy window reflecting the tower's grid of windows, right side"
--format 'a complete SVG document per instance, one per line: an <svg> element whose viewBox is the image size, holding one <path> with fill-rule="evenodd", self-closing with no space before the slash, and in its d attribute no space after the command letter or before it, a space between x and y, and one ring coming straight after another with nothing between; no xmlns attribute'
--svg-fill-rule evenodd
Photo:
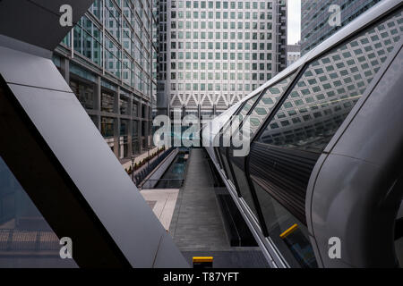
<svg viewBox="0 0 403 286"><path fill-rule="evenodd" d="M259 139L322 152L400 40L401 12L309 64Z"/></svg>

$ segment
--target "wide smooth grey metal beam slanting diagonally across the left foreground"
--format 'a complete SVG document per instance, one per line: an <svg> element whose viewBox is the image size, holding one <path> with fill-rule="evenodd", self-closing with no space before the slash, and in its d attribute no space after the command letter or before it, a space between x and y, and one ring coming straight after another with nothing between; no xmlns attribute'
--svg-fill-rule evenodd
<svg viewBox="0 0 403 286"><path fill-rule="evenodd" d="M10 64L8 66L0 62L0 71L15 69L15 75L21 71L23 76L31 74L31 79L40 80L37 84L31 82L29 87L8 83L14 97L124 257L134 267L151 267L166 231L73 92L47 89L43 80L57 76L60 79L54 84L60 83L60 86L54 88L65 88L65 82L53 63L22 54L4 54L4 49L0 50L0 58L14 57L6 62ZM20 56L31 57L28 61L36 64L13 65L18 63ZM40 76L35 74L38 71L42 71ZM18 77L13 81L21 82ZM176 254L177 259L171 266L188 266L171 238L164 240L164 246Z"/></svg>

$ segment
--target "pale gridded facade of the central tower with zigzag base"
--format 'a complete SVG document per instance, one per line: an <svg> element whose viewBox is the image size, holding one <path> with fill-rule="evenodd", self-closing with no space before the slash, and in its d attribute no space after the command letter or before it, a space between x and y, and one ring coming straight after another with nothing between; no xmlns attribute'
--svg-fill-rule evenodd
<svg viewBox="0 0 403 286"><path fill-rule="evenodd" d="M160 113L220 114L287 66L285 1L159 1Z"/></svg>

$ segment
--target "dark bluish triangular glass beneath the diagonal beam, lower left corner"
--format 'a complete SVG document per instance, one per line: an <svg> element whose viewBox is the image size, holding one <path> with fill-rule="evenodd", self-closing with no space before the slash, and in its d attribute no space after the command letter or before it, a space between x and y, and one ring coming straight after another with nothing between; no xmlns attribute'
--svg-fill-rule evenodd
<svg viewBox="0 0 403 286"><path fill-rule="evenodd" d="M77 267L0 156L0 267Z"/></svg>

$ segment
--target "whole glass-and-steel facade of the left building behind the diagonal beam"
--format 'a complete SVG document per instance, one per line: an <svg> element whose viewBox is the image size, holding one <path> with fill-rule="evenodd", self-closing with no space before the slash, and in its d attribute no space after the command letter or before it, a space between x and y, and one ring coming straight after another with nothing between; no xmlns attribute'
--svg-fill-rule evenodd
<svg viewBox="0 0 403 286"><path fill-rule="evenodd" d="M96 0L54 63L118 158L151 144L157 49L151 0Z"/></svg>

